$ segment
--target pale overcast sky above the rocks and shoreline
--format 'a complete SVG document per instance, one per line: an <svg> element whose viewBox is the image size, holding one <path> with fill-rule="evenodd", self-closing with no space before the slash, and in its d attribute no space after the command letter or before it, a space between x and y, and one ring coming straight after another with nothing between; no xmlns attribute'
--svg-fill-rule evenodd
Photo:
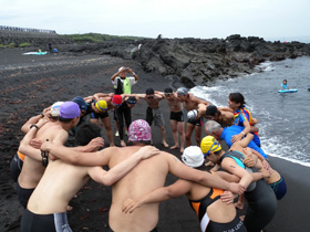
<svg viewBox="0 0 310 232"><path fill-rule="evenodd" d="M310 0L0 0L0 25L156 38L310 42Z"/></svg>

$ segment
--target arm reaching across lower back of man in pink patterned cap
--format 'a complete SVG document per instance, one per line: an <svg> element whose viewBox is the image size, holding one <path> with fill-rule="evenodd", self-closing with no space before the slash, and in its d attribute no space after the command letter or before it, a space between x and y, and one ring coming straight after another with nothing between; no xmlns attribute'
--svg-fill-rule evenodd
<svg viewBox="0 0 310 232"><path fill-rule="evenodd" d="M190 188L192 183L189 181L177 180L175 183L168 187L161 187L138 198L127 199L124 202L122 210L124 213L132 213L136 208L141 208L143 204L157 203L166 201L170 198L183 196L187 193Z"/></svg>

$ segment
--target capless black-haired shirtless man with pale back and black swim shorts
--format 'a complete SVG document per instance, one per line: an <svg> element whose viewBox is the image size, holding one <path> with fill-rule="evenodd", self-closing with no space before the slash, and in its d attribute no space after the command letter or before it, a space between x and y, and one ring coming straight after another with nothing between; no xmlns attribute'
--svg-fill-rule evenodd
<svg viewBox="0 0 310 232"><path fill-rule="evenodd" d="M96 125L89 123L83 125L76 136L86 144L94 137L100 136ZM21 149L28 154L40 156L40 150L32 148L27 141L35 134L32 128L27 136L25 143L21 144ZM91 137L89 135L92 135ZM84 139L86 137L86 139ZM87 138L90 137L90 138ZM93 151L97 149L94 148ZM105 149L105 155L111 156L118 152L118 148L110 147ZM110 154L110 155L108 155ZM159 151L155 147L146 146L137 150L128 159L120 162L114 168L105 171L101 167L73 166L62 160L50 160L43 177L29 199L29 203L21 220L22 232L41 231L71 231L66 220L66 205L73 196L82 188L90 177L105 186L111 186L126 175L141 160L147 159Z"/></svg>

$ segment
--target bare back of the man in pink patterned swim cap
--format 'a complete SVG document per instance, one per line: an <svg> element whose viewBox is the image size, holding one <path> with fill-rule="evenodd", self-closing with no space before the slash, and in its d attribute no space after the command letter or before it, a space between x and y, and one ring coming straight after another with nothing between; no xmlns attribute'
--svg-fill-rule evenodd
<svg viewBox="0 0 310 232"><path fill-rule="evenodd" d="M128 158L141 147L126 147L117 156L111 157L108 167ZM128 198L143 196L158 187L163 187L169 171L166 152L142 160L131 172L123 177L112 188L112 205L110 210L110 226L113 231L151 231L158 222L158 203L151 203L137 209L132 214L122 212L122 205Z"/></svg>

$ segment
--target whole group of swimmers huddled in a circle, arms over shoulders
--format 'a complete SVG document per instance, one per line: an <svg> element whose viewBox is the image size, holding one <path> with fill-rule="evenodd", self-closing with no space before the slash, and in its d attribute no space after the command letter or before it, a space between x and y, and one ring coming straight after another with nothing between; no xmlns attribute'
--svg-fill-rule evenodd
<svg viewBox="0 0 310 232"><path fill-rule="evenodd" d="M185 87L133 94L138 76L130 67L120 67L111 80L114 93L56 102L22 126L25 136L11 161L18 199L24 208L22 232L72 231L66 218L69 202L89 179L112 186L108 231L157 231L158 203L182 194L196 211L202 231L260 232L266 228L287 187L260 148L258 120L240 93L229 95L228 107L217 107ZM132 122L132 108L141 98L147 103L145 120ZM170 149L179 149L182 161L151 146L154 120L162 144L169 147L162 99L170 109ZM114 145L108 110L114 112L121 147ZM104 149L100 119L110 144ZM194 130L197 146L192 145ZM64 146L69 135L74 135L75 147ZM179 179L164 187L168 173ZM239 218L237 209L245 203L246 214Z"/></svg>

